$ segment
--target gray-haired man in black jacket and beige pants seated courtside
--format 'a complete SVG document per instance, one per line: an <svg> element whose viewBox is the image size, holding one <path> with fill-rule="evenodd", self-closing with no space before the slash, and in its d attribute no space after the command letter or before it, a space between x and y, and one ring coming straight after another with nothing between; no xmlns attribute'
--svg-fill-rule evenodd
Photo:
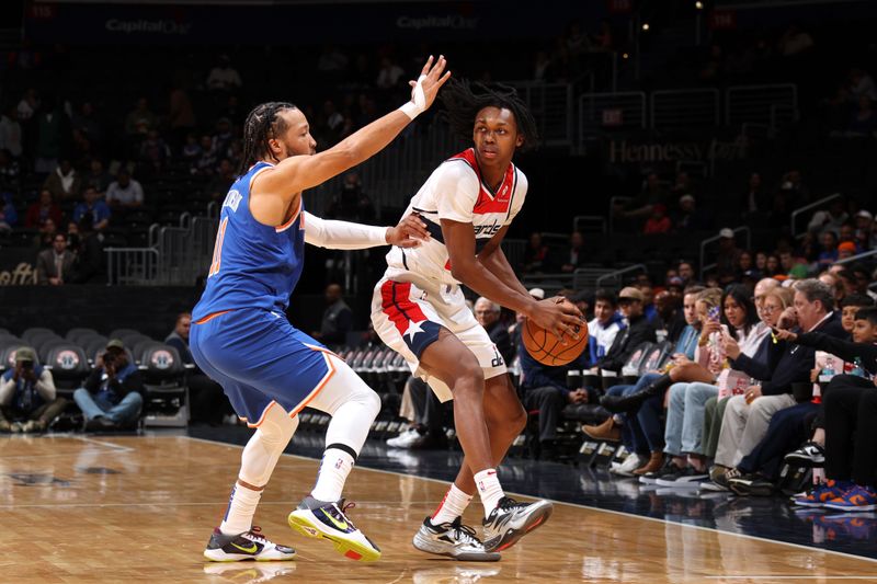
<svg viewBox="0 0 877 584"><path fill-rule="evenodd" d="M795 308L786 309L781 317L779 329L798 327L801 332L821 332L843 339L846 333L834 313L834 297L831 289L816 279L805 279L795 285ZM768 366L760 366L752 358L740 355L731 366L743 370L761 385L750 386L742 396L728 401L721 422L721 433L716 450L715 472L710 478L728 488L731 479L740 477L737 469L742 458L750 454L767 432L767 425L776 412L795 405L791 383L808 382L813 368L813 351L787 343L771 343Z"/></svg>

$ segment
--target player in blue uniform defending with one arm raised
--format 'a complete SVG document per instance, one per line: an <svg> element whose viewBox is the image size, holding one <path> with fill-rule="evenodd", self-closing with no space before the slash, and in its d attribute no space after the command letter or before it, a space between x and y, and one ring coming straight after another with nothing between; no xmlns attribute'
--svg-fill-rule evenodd
<svg viewBox="0 0 877 584"><path fill-rule="evenodd" d="M394 229L323 221L301 192L386 147L435 100L449 77L432 57L412 81L411 102L337 146L315 153L305 115L288 103L257 106L244 123L241 175L223 204L204 294L192 311L197 365L218 381L238 415L257 428L241 456L226 515L204 551L214 561L289 560L292 548L252 526L255 507L306 405L332 416L317 482L288 516L301 534L329 539L354 560L380 550L346 516L341 492L380 409L377 394L339 357L284 318L301 274L305 242L337 249L414 245L419 219Z"/></svg>

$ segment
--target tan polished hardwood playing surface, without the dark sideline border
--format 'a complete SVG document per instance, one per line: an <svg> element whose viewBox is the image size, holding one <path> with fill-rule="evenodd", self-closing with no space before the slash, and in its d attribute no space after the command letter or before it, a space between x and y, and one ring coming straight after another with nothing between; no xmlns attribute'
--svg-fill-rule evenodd
<svg viewBox="0 0 877 584"><path fill-rule="evenodd" d="M240 448L182 436L0 438L0 582L868 582L877 563L799 546L558 503L498 563L460 563L411 547L446 484L355 469L351 517L384 551L356 563L286 525L317 461L284 456L257 524L298 550L294 562L203 560ZM475 502L466 519L480 522ZM765 517L764 520L771 520Z"/></svg>

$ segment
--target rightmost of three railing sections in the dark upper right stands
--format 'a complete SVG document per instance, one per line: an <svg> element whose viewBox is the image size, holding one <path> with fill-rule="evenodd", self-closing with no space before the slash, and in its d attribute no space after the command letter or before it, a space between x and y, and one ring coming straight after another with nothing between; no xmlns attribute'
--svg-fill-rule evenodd
<svg viewBox="0 0 877 584"><path fill-rule="evenodd" d="M782 114L781 112L787 112ZM775 127L779 119L798 119L798 88L791 83L733 85L725 90L725 123L745 122Z"/></svg>

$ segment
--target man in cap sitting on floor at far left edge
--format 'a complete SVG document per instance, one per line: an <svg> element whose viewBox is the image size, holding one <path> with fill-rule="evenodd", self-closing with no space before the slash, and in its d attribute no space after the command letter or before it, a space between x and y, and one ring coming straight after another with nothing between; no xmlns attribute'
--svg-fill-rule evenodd
<svg viewBox="0 0 877 584"><path fill-rule="evenodd" d="M15 352L15 367L0 378L0 432L44 432L67 406L55 393L52 371L36 362L33 348Z"/></svg>

